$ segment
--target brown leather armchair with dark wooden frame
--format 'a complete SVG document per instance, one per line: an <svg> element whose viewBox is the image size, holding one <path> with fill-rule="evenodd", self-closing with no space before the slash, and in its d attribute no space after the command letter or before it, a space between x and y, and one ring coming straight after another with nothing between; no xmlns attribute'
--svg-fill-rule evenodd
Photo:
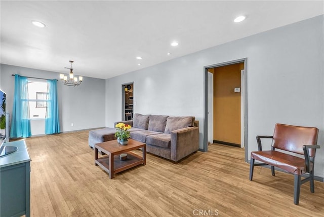
<svg viewBox="0 0 324 217"><path fill-rule="evenodd" d="M250 180L254 166L270 165L274 176L274 167L278 167L295 175L294 203L298 205L300 186L310 182L310 192L314 193L314 163L318 129L316 127L300 127L276 124L273 136L257 136L258 152L251 152ZM272 138L271 151L262 151L261 138ZM304 158L279 152L275 149L304 155ZM255 160L263 163L255 163ZM308 174L301 180L302 174Z"/></svg>

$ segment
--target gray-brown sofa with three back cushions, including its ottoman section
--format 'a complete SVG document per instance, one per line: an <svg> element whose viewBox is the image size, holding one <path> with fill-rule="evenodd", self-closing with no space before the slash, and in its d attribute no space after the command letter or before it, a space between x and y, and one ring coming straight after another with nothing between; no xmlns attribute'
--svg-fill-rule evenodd
<svg viewBox="0 0 324 217"><path fill-rule="evenodd" d="M195 117L134 114L132 121L120 122L132 126L131 138L146 143L148 153L177 162L199 149L199 127ZM115 122L114 125L120 122ZM111 140L115 132L114 128L92 131L89 132L91 147L94 142ZM102 134L104 132L105 135Z"/></svg>

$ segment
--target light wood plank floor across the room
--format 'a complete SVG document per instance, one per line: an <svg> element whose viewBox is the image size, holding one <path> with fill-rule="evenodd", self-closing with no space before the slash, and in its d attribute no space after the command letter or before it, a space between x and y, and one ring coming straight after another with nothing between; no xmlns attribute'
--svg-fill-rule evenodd
<svg viewBox="0 0 324 217"><path fill-rule="evenodd" d="M94 165L88 131L26 139L32 216L323 216L324 183L256 167L249 180L244 149L211 144L178 164L147 154L146 166L108 174ZM136 151L140 154L140 151ZM217 210L217 211L215 211ZM202 216L202 215L200 215Z"/></svg>

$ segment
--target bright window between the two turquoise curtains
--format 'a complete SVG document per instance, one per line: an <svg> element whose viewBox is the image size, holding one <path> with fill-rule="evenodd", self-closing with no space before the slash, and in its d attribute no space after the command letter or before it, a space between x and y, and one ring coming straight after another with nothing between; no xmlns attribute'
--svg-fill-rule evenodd
<svg viewBox="0 0 324 217"><path fill-rule="evenodd" d="M28 102L30 119L46 117L47 108L47 82L28 79Z"/></svg>

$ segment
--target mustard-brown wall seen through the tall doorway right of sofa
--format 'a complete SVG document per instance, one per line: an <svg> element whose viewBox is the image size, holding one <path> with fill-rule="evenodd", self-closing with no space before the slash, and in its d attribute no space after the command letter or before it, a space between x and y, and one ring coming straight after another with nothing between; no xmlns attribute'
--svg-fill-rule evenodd
<svg viewBox="0 0 324 217"><path fill-rule="evenodd" d="M240 147L241 70L244 62L214 68L214 142Z"/></svg>

